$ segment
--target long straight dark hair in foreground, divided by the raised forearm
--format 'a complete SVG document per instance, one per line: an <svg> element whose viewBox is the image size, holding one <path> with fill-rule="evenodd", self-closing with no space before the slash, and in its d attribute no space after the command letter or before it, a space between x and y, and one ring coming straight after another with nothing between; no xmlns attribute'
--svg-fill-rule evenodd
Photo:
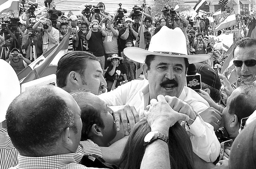
<svg viewBox="0 0 256 169"><path fill-rule="evenodd" d="M146 147L144 137L151 131L146 120L139 121L133 127L125 144L120 167L138 169ZM169 156L173 169L193 169L192 144L185 129L177 122L169 128Z"/></svg>

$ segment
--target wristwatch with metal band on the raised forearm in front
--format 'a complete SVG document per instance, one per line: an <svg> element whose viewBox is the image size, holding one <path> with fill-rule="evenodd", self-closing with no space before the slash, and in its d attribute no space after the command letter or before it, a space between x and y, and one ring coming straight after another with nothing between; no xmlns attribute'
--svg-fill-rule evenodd
<svg viewBox="0 0 256 169"><path fill-rule="evenodd" d="M166 134L160 133L158 131L150 131L144 138L144 145L148 145L153 143L155 140L161 139L165 141L167 144L169 142L169 138Z"/></svg>

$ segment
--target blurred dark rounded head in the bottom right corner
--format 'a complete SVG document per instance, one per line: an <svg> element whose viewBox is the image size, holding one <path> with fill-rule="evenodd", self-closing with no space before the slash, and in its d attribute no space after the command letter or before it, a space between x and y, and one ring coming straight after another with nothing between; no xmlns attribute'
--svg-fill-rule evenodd
<svg viewBox="0 0 256 169"><path fill-rule="evenodd" d="M231 147L229 168L256 168L256 121L254 120L241 131Z"/></svg>

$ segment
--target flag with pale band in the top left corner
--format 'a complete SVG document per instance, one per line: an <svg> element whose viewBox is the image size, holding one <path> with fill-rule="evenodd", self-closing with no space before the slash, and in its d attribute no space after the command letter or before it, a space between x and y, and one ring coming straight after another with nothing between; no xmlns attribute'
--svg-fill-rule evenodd
<svg viewBox="0 0 256 169"><path fill-rule="evenodd" d="M0 14L9 11L19 11L19 0L1 0Z"/></svg>

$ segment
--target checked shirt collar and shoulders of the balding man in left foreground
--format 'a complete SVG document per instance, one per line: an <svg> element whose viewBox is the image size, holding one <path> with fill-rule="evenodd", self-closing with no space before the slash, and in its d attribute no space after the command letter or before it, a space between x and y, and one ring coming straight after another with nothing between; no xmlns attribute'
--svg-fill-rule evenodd
<svg viewBox="0 0 256 169"><path fill-rule="evenodd" d="M95 169L78 164L83 154L69 153L45 157L27 157L19 154L19 164L10 169Z"/></svg>

